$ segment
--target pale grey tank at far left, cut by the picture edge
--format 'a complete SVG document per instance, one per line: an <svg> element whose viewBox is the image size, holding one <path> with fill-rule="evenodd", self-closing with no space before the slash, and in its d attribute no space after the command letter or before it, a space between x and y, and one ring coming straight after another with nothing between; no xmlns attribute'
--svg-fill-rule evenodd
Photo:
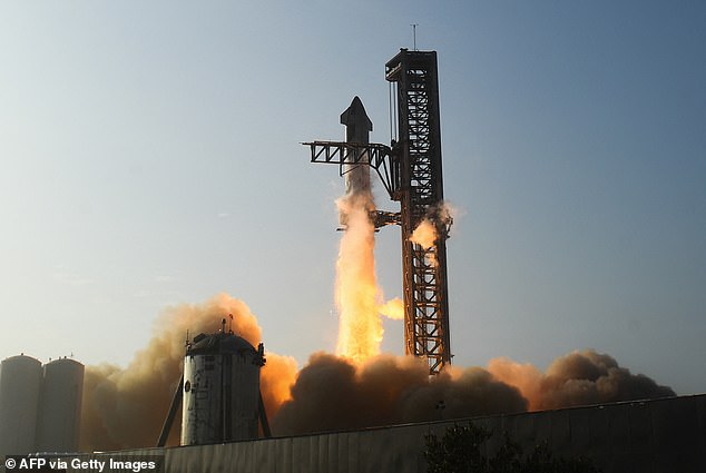
<svg viewBox="0 0 706 473"><path fill-rule="evenodd" d="M0 456L35 451L41 363L30 356L0 364Z"/></svg>

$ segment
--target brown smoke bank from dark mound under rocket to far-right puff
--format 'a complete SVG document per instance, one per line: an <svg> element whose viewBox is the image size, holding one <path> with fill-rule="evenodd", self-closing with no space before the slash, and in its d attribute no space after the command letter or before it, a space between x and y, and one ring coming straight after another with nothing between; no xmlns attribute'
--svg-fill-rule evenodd
<svg viewBox="0 0 706 473"><path fill-rule="evenodd" d="M559 357L546 373L496 358L487 369L448 367L431 377L412 357L381 355L355 364L317 353L297 374L273 430L294 435L674 395L594 351Z"/></svg>

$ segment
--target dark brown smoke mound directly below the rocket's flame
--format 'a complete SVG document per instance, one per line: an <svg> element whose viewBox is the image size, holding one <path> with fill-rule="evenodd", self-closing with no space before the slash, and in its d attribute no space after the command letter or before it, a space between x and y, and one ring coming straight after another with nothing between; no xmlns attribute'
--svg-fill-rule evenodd
<svg viewBox="0 0 706 473"><path fill-rule="evenodd" d="M429 376L413 357L381 355L362 364L314 354L273 421L277 435L520 412L527 401L482 368Z"/></svg>

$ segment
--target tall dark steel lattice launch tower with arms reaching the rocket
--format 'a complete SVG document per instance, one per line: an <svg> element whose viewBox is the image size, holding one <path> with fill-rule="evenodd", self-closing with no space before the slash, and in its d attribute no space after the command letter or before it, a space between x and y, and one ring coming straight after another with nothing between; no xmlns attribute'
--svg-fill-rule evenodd
<svg viewBox="0 0 706 473"><path fill-rule="evenodd" d="M375 227L402 228L404 349L425 357L430 374L438 374L451 363L445 243L451 219L443 207L437 52L401 49L385 65L385 78L395 88L396 142L304 145L311 147L312 162L337 164L341 175L346 165L369 165L400 201L399 214L376 210L371 219ZM424 219L437 235L430 247L411 240Z"/></svg>

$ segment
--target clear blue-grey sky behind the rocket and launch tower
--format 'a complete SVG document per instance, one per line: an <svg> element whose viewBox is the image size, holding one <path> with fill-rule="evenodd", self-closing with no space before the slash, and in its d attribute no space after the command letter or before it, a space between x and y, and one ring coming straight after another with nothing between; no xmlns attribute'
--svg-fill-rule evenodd
<svg viewBox="0 0 706 473"><path fill-rule="evenodd" d="M0 358L126 366L222 292L268 351L332 352L344 184L301 142L342 140L356 95L390 142L413 23L439 57L453 363L595 348L706 392L699 1L0 0ZM401 296L399 228L376 264Z"/></svg>

